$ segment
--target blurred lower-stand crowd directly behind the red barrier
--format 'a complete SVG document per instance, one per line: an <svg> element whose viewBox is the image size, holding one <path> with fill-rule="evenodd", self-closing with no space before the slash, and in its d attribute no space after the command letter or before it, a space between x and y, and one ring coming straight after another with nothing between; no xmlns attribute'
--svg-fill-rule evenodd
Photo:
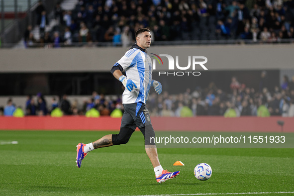
<svg viewBox="0 0 294 196"><path fill-rule="evenodd" d="M294 76L290 81L287 76L283 78L283 84L267 87L265 82L266 72L261 73L259 90L240 84L232 77L231 92L223 92L214 83L210 83L205 89L196 87L195 90L187 89L179 95L169 95L164 91L161 95L151 93L147 105L152 116L199 116L218 115L226 117L238 116L294 116ZM52 97L50 106L41 94L36 100L27 97L26 115L49 115L52 110L60 108L64 115L87 115L87 111L95 108L99 115L110 115L115 109L123 111L121 97L111 99L104 95L93 95L85 100L81 106L77 100L70 102L66 95L59 100ZM11 99L7 105L0 109L0 115L11 116L15 110Z"/></svg>

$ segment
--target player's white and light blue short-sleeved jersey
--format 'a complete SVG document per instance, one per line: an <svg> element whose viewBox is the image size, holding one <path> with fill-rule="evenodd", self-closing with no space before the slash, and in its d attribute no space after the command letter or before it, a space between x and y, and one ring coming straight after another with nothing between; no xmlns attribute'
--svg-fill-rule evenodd
<svg viewBox="0 0 294 196"><path fill-rule="evenodd" d="M122 94L122 103L143 102L149 95L152 80L152 61L144 49L134 44L115 65L119 64L126 73L126 77L131 79L137 89L132 92L127 89Z"/></svg>

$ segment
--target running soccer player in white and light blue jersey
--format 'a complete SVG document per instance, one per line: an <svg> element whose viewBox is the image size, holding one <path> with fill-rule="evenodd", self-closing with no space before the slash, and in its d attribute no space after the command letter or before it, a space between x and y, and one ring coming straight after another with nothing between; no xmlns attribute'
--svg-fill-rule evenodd
<svg viewBox="0 0 294 196"><path fill-rule="evenodd" d="M119 80L125 90L122 94L124 113L121 119L119 134L109 134L89 144L77 145L77 166L90 151L112 145L126 144L136 127L140 129L145 138L145 150L154 168L156 181L163 183L180 174L180 172L168 172L160 165L156 145L151 142L155 137L151 124L149 111L145 105L151 87L156 93L162 91L161 84L152 80L152 63L146 49L151 44L150 30L142 28L135 33L136 43L133 44L119 61L111 69L111 73ZM126 76L122 74L125 70Z"/></svg>

